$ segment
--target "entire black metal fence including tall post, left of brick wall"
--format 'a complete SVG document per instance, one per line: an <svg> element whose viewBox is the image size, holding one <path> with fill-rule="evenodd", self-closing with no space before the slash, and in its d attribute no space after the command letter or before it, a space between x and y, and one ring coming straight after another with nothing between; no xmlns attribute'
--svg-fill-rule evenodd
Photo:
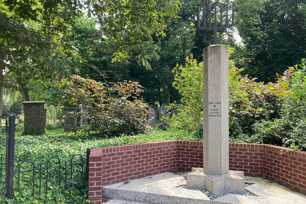
<svg viewBox="0 0 306 204"><path fill-rule="evenodd" d="M6 130L6 141L2 143L6 145L6 152L0 155L0 184L4 183L9 199L13 198L14 191L21 191L21 186L32 189L32 195L39 195L47 194L54 188L64 190L71 185L83 185L84 180L88 182L90 149L86 151L86 159L81 154L75 154L69 162L63 162L53 156L45 164L35 164L28 159L14 166L15 115L10 115L9 119L1 118L6 120L6 126L1 126Z"/></svg>

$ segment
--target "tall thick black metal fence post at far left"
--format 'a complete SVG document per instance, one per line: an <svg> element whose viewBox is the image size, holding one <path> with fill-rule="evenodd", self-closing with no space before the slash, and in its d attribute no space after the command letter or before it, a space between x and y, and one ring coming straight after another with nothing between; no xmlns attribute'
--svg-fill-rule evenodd
<svg viewBox="0 0 306 204"><path fill-rule="evenodd" d="M13 198L13 178L14 178L14 146L15 146L15 118L16 115L9 116L9 137L7 150L7 165L6 165L6 197Z"/></svg>

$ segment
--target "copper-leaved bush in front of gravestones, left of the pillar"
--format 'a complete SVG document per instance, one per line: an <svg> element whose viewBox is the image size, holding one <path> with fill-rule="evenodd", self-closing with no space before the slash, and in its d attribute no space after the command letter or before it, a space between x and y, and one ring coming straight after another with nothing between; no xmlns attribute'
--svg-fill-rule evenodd
<svg viewBox="0 0 306 204"><path fill-rule="evenodd" d="M150 129L147 117L151 110L140 97L142 87L138 82L103 83L74 75L62 80L60 86L65 88L63 104L87 108L87 115L80 112L76 117L85 117L89 130L117 136L147 133Z"/></svg>

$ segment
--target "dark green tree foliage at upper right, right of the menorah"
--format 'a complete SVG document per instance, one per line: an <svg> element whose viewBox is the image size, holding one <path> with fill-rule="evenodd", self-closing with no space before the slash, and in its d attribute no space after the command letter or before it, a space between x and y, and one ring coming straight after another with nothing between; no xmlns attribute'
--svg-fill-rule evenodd
<svg viewBox="0 0 306 204"><path fill-rule="evenodd" d="M306 55L304 0L236 0L246 72L268 82ZM247 60L247 61L248 61Z"/></svg>

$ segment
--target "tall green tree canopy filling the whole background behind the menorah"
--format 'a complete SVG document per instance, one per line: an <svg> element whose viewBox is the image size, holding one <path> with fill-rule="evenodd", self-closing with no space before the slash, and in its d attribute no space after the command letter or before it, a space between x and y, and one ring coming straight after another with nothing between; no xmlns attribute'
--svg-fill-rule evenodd
<svg viewBox="0 0 306 204"><path fill-rule="evenodd" d="M202 0L55 0L0 3L1 87L45 99L47 85L71 74L107 82L138 81L149 104L180 100L172 69L193 54L202 61L213 33L196 29ZM206 5L225 3L206 1ZM306 50L302 0L235 0L236 28L218 43L250 76L268 82L298 63ZM99 73L99 74L98 74ZM37 94L42 92L43 94Z"/></svg>

